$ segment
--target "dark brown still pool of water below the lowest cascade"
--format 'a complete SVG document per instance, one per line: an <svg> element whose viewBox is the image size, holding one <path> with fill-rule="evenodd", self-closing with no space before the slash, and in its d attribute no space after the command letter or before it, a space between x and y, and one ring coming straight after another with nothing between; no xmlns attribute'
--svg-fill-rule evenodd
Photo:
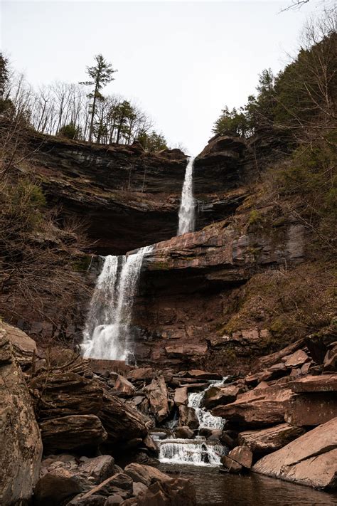
<svg viewBox="0 0 337 506"><path fill-rule="evenodd" d="M160 469L191 480L198 506L337 505L337 495L255 473L231 475L219 473L218 468L176 464L161 464Z"/></svg>

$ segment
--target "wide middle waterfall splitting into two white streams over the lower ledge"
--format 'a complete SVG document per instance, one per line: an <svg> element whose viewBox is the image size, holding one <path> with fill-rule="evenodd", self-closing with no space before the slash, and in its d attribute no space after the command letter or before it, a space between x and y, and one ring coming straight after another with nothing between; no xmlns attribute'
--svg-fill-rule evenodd
<svg viewBox="0 0 337 506"><path fill-rule="evenodd" d="M132 354L132 307L144 255L152 246L128 256L105 257L85 325L83 356L127 360Z"/></svg>

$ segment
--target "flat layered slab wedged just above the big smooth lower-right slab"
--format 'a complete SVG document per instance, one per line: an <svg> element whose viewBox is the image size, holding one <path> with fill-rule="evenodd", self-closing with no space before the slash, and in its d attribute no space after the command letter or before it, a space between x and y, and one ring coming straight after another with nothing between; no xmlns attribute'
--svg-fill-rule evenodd
<svg viewBox="0 0 337 506"><path fill-rule="evenodd" d="M275 427L263 428L260 431L244 431L238 436L240 445L247 445L255 457L262 457L267 453L279 450L294 439L301 436L304 429L281 423Z"/></svg>

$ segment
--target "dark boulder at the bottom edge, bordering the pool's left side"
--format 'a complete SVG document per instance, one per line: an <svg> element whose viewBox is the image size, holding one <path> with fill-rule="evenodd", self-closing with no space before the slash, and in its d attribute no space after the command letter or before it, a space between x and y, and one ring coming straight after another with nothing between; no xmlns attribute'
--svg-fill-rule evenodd
<svg viewBox="0 0 337 506"><path fill-rule="evenodd" d="M196 506L196 490L189 480L156 481L137 496L137 506Z"/></svg>

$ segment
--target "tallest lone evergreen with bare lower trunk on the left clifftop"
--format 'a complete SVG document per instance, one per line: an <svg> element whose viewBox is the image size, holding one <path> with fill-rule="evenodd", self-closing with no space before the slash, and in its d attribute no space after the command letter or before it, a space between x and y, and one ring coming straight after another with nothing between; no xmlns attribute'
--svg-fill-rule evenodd
<svg viewBox="0 0 337 506"><path fill-rule="evenodd" d="M102 55L95 56L96 65L87 67L87 75L91 78L90 81L84 81L80 84L87 86L95 86L92 93L89 93L88 97L92 98L92 105L90 110L90 129L89 129L89 141L92 141L92 132L94 129L94 117L96 110L97 100L102 100L103 96L100 90L107 84L114 80L113 74L117 72L112 68L111 63L107 63Z"/></svg>

